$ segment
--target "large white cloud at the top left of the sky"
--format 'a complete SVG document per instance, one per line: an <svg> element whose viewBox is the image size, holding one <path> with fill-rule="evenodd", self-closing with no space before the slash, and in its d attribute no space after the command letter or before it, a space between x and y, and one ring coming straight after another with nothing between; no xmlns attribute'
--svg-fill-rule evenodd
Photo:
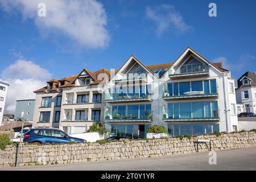
<svg viewBox="0 0 256 182"><path fill-rule="evenodd" d="M46 4L46 17L38 16L38 4ZM85 48L103 48L109 43L105 9L97 0L0 0L9 13L21 11L32 18L42 35L60 35Z"/></svg>

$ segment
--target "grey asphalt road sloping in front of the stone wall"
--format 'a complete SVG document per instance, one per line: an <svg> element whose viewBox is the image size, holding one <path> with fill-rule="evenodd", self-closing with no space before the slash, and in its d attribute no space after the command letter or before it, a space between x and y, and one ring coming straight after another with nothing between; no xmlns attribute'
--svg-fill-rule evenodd
<svg viewBox="0 0 256 182"><path fill-rule="evenodd" d="M217 151L217 164L210 165L208 152L172 155L158 158L141 158L88 162L76 164L56 164L48 166L28 166L0 168L0 170L64 170L64 171L140 171L140 170L256 170L256 147Z"/></svg>

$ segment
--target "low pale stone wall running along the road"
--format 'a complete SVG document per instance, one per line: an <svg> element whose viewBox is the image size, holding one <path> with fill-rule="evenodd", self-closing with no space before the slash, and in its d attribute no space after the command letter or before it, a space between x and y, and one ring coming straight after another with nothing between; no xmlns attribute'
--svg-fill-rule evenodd
<svg viewBox="0 0 256 182"><path fill-rule="evenodd" d="M215 151L256 146L256 133L254 131L222 134L219 137L216 135L200 135L191 139L125 139L121 142L110 143L55 145L22 144L19 166L188 154L197 152L195 143L197 139L210 139L212 141L212 150ZM208 146L203 143L199 144L199 152L208 150L209 144ZM16 146L7 146L5 150L0 150L0 167L14 166L15 157Z"/></svg>

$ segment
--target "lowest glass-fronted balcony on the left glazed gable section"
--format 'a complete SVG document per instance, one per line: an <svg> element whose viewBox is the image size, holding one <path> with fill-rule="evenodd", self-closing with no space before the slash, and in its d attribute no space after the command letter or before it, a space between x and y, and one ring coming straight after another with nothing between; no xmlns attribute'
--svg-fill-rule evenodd
<svg viewBox="0 0 256 182"><path fill-rule="evenodd" d="M146 110L143 114L112 114L106 115L105 122L151 122L152 111Z"/></svg>

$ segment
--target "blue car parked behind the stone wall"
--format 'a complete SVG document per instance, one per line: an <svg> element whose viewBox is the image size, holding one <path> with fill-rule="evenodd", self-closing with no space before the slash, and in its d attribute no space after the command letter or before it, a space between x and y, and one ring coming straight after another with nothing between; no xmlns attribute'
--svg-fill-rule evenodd
<svg viewBox="0 0 256 182"><path fill-rule="evenodd" d="M23 142L27 143L68 143L77 142L85 143L86 140L80 138L69 137L63 131L58 129L46 129L46 128L36 128L29 130L24 134Z"/></svg>

